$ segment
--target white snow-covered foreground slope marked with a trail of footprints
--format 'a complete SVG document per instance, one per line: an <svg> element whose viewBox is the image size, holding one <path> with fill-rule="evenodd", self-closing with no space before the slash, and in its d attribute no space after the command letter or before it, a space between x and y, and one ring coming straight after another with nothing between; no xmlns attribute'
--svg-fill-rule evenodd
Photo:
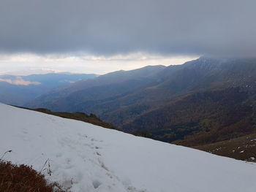
<svg viewBox="0 0 256 192"><path fill-rule="evenodd" d="M256 164L0 104L0 155L78 191L255 192Z"/></svg>

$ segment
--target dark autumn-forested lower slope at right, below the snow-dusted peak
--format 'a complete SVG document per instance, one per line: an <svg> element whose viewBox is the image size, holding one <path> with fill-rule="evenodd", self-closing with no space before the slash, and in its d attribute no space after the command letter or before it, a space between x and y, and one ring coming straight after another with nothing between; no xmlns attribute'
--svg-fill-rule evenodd
<svg viewBox="0 0 256 192"><path fill-rule="evenodd" d="M147 130L154 139L197 146L256 132L255 103L240 88L191 93L140 115L123 128ZM189 136L190 135L190 136Z"/></svg>

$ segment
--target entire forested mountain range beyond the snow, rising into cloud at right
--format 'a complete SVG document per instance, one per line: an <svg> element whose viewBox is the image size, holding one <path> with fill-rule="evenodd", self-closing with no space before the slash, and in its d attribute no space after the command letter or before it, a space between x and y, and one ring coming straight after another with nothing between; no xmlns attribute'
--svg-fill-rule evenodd
<svg viewBox="0 0 256 192"><path fill-rule="evenodd" d="M256 59L202 57L76 82L29 107L93 112L124 131L197 146L255 133L255 93Z"/></svg>

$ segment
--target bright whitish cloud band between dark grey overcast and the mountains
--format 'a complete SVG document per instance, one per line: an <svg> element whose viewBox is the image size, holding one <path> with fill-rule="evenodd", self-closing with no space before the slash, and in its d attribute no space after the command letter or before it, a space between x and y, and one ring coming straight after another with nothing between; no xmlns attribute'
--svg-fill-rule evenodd
<svg viewBox="0 0 256 192"><path fill-rule="evenodd" d="M138 69L148 65L177 65L198 58L197 56L163 56L146 53L127 55L0 55L0 74L29 70L23 74L47 72L79 72L105 74L116 70ZM38 69L41 69L39 72Z"/></svg>

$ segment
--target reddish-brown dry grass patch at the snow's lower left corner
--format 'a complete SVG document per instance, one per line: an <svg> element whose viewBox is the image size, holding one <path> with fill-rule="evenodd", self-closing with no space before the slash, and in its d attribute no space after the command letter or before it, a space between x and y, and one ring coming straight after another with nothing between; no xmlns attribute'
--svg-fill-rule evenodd
<svg viewBox="0 0 256 192"><path fill-rule="evenodd" d="M0 191L1 192L61 192L57 183L48 184L43 174L31 166L14 165L0 161ZM64 191L63 191L64 192Z"/></svg>

